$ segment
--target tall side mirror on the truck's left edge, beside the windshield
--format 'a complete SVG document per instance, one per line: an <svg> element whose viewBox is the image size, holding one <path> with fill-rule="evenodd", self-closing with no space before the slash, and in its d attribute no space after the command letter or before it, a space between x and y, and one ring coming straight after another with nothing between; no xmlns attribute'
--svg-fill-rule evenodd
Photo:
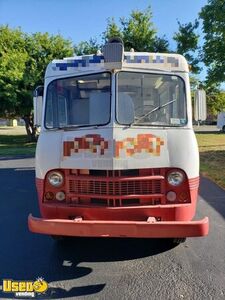
<svg viewBox="0 0 225 300"><path fill-rule="evenodd" d="M34 90L33 105L34 105L34 126L41 126L42 105L43 105L44 87L38 86Z"/></svg>

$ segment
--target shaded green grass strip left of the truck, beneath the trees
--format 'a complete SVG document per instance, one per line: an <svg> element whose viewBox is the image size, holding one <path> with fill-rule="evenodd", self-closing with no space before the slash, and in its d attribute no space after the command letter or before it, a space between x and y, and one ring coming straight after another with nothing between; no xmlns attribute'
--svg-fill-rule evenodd
<svg viewBox="0 0 225 300"><path fill-rule="evenodd" d="M0 157L34 155L36 143L29 143L27 135L21 132L16 129L0 128Z"/></svg>

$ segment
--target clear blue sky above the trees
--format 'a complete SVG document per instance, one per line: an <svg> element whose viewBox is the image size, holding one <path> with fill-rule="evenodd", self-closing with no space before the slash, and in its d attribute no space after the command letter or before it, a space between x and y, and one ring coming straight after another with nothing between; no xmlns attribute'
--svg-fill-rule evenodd
<svg viewBox="0 0 225 300"><path fill-rule="evenodd" d="M107 18L129 17L132 10L144 10L149 5L157 35L165 35L170 47L182 24L194 21L207 0L0 0L0 25L21 27L26 33L48 32L61 34L74 44L97 38L106 29ZM203 37L201 28L198 33ZM202 40L202 38L201 38ZM202 79L205 71L202 72Z"/></svg>

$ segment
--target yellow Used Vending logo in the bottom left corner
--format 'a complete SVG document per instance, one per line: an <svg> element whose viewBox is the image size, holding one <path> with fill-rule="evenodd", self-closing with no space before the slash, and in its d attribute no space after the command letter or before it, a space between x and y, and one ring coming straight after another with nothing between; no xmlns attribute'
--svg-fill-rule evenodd
<svg viewBox="0 0 225 300"><path fill-rule="evenodd" d="M48 290L48 283L43 278L35 281L3 279L3 293L14 293L15 297L35 298L37 294L44 294Z"/></svg>

